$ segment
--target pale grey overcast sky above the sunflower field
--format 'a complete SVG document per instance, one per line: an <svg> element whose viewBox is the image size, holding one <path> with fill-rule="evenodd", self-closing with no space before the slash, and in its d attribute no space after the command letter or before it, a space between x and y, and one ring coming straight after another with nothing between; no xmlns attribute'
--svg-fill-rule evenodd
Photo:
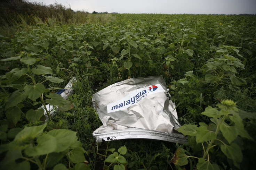
<svg viewBox="0 0 256 170"><path fill-rule="evenodd" d="M256 14L256 0L28 0L61 3L88 12L155 14Z"/></svg>

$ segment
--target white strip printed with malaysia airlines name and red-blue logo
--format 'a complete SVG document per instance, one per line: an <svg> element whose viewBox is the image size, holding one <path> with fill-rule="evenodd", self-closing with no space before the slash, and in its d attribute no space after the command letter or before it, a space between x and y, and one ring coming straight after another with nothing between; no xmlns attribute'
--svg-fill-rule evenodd
<svg viewBox="0 0 256 170"><path fill-rule="evenodd" d="M130 106L139 103L142 101L146 96L151 94L159 93L159 92L166 92L160 84L150 85L147 87L139 88L133 92L131 92L126 97L113 102L107 105L107 113L123 110L129 108Z"/></svg>

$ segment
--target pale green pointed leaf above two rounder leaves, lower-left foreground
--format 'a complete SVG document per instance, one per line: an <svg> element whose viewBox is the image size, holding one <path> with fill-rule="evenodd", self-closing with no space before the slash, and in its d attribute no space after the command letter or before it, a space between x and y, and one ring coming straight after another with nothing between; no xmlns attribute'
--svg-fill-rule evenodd
<svg viewBox="0 0 256 170"><path fill-rule="evenodd" d="M47 124L42 124L39 126L31 126L31 127L25 127L22 131L20 131L14 138L14 142L17 143L27 143L27 142L33 142L33 139L40 135L43 132L43 129L45 129Z"/></svg>

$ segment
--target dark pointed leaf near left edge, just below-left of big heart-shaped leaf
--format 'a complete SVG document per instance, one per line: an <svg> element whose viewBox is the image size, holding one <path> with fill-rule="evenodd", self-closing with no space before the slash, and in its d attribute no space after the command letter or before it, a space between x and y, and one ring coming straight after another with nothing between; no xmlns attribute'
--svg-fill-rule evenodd
<svg viewBox="0 0 256 170"><path fill-rule="evenodd" d="M14 107L20 102L24 101L27 98L24 92L15 91L9 97L8 101L6 102L5 109L10 107Z"/></svg>

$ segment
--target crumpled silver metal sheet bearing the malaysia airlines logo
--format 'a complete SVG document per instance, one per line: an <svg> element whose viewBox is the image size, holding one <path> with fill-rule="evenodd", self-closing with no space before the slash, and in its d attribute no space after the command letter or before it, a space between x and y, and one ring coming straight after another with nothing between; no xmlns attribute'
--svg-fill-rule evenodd
<svg viewBox="0 0 256 170"><path fill-rule="evenodd" d="M149 138L186 143L175 131L181 125L167 93L162 76L130 78L95 93L93 107L103 123L93 133L96 142Z"/></svg>

